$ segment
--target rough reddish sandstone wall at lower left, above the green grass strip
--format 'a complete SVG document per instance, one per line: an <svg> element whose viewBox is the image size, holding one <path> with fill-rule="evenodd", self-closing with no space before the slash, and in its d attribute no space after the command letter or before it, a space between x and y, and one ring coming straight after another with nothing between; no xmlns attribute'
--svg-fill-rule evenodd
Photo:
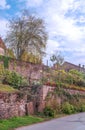
<svg viewBox="0 0 85 130"><path fill-rule="evenodd" d="M26 95L0 93L0 119L34 114L33 102Z"/></svg>

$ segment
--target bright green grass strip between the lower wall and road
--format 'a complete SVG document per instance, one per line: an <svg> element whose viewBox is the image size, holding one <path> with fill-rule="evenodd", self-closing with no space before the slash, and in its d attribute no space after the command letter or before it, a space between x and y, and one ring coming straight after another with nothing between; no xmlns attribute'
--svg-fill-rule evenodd
<svg viewBox="0 0 85 130"><path fill-rule="evenodd" d="M26 126L33 123L38 123L44 121L43 118L24 116L24 117L14 117L11 119L0 120L0 130L13 130L14 128L20 126Z"/></svg>

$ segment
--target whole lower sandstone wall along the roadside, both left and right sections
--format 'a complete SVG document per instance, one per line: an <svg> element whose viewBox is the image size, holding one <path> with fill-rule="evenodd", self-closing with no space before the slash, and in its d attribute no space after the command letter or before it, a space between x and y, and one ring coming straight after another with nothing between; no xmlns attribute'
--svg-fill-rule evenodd
<svg viewBox="0 0 85 130"><path fill-rule="evenodd" d="M1 93L0 92L0 119L6 119L15 116L24 116L29 114L34 114L35 112L43 112L43 109L48 102L46 97L49 92L54 92L55 87L51 86L42 86L37 89L37 96L34 97L34 100L29 101L27 100L27 96L23 95L22 93ZM65 91L69 92L70 94L81 94L85 95L85 92L72 90L72 89L65 89ZM49 102L55 99L52 98ZM56 102L61 103L62 99L56 97Z"/></svg>

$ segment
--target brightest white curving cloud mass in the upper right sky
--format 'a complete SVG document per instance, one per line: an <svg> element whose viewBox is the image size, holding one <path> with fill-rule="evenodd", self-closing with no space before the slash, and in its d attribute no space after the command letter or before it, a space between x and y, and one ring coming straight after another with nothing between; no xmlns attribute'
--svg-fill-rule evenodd
<svg viewBox="0 0 85 130"><path fill-rule="evenodd" d="M69 40L76 41L82 38L83 32L81 29L83 28L76 25L76 19L65 16L73 4L74 0L69 0L69 2L61 0L60 3L55 0L48 1L43 15L45 15L46 22L48 23L50 36L55 32L55 35L65 36Z"/></svg>

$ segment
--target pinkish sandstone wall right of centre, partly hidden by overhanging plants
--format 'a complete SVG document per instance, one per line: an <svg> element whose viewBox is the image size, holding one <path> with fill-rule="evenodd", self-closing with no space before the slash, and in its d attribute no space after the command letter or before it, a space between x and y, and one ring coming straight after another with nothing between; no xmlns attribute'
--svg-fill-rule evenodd
<svg viewBox="0 0 85 130"><path fill-rule="evenodd" d="M56 96L56 98L54 97L54 95L52 95L51 99L49 101L46 100L46 97L48 95L49 92L54 92L56 87L52 87L52 86L42 86L41 89L38 91L38 96L37 96L37 109L38 112L43 112L43 109L45 108L47 103L50 103L51 100L56 99L56 102L58 104L62 103L62 99L58 96ZM79 91L79 90L73 90L73 89L64 89L66 92L68 92L71 95L74 94L80 94L80 95L85 95L85 91Z"/></svg>

